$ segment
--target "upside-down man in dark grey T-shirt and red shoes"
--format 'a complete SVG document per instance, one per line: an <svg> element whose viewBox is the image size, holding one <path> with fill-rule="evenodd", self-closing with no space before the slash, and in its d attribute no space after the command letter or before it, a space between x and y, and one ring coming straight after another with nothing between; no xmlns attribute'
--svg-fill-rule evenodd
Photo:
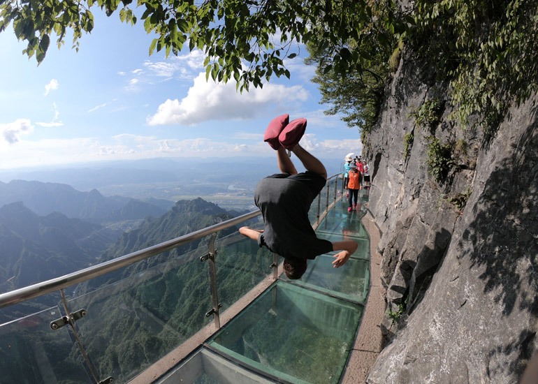
<svg viewBox="0 0 538 384"><path fill-rule="evenodd" d="M333 267L341 267L358 245L352 240L329 242L316 236L308 211L326 184L327 171L321 161L298 144L305 132L306 119L288 121L289 115L273 119L264 138L277 151L282 172L261 179L254 192L254 202L261 210L264 228L242 227L239 232L282 256L286 276L300 279L307 269L307 259L340 251L334 256ZM306 172L297 172L286 149L297 156Z"/></svg>

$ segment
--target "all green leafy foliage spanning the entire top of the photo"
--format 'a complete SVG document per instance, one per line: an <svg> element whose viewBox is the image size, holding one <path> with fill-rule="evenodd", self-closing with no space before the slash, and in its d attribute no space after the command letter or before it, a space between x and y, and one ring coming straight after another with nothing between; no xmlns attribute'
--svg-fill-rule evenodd
<svg viewBox="0 0 538 384"><path fill-rule="evenodd" d="M402 47L449 84L446 106L465 125L472 115L494 132L509 105L538 84L537 0L0 0L0 32L13 24L24 53L45 59L94 28L93 11L142 20L156 36L149 52L205 52L206 76L237 87L289 77L284 60L307 45L329 114L368 132L377 121ZM138 15L138 17L137 17ZM390 62L392 64L389 64Z"/></svg>

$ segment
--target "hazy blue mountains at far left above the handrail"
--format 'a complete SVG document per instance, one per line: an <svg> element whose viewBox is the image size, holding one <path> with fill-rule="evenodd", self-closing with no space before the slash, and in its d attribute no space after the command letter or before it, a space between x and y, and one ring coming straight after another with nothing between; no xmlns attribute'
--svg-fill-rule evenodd
<svg viewBox="0 0 538 384"><path fill-rule="evenodd" d="M96 263L121 232L54 212L38 216L22 202L0 207L0 292Z"/></svg>

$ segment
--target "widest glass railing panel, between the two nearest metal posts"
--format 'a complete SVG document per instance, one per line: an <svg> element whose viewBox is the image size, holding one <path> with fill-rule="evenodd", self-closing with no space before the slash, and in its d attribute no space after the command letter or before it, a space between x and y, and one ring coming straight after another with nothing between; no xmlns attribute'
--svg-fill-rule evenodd
<svg viewBox="0 0 538 384"><path fill-rule="evenodd" d="M113 283L103 275L76 288L68 304L87 310L78 327L101 379L129 381L212 321L207 242L119 270Z"/></svg>

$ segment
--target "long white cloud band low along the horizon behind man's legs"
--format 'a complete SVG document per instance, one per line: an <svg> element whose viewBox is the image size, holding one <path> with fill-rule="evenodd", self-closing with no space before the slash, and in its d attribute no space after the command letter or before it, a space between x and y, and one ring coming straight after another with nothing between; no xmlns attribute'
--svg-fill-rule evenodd
<svg viewBox="0 0 538 384"><path fill-rule="evenodd" d="M8 138L31 131L29 121L15 121L0 126L0 132L8 132ZM5 138L5 135L3 135ZM96 138L24 140L17 145L0 141L0 168L20 168L35 165L57 165L77 161L135 160L140 158L225 158L266 157L275 158L275 151L261 136L252 141L223 141L209 138L157 138L152 135L121 134L112 140ZM360 140L317 140L316 135L307 133L300 141L305 149L319 158L340 158L348 152L361 153ZM292 155L293 156L293 155ZM297 162L297 158L293 158ZM297 165L297 164L296 164Z"/></svg>

